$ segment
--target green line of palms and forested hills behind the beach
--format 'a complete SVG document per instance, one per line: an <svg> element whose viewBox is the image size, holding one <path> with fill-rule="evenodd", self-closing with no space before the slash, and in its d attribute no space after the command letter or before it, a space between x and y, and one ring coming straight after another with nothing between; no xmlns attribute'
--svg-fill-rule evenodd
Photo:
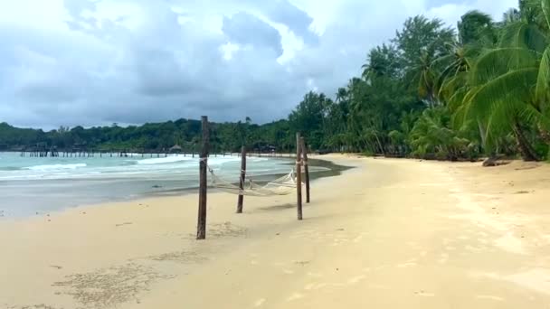
<svg viewBox="0 0 550 309"><path fill-rule="evenodd" d="M407 19L367 53L361 76L334 96L308 92L286 119L213 123L212 145L273 145L292 151L294 134L312 150L473 160L505 155L544 160L550 149L550 0L520 0L499 21L470 11L456 28ZM331 98L332 97L332 98ZM200 122L21 129L0 124L0 148L36 143L109 150L192 148Z"/></svg>

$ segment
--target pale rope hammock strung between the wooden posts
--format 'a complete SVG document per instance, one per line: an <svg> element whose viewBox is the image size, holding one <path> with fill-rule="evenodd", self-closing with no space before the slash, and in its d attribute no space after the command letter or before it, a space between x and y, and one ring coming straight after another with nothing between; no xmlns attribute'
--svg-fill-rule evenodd
<svg viewBox="0 0 550 309"><path fill-rule="evenodd" d="M254 183L250 177L245 178L245 183L242 185L242 189L238 185L225 181L213 173L212 169L209 169L212 174L212 185L223 192L228 192L238 195L250 195L250 196L273 196L273 195L288 195L296 190L296 177L294 171L290 171L289 174L282 176L265 185L258 185ZM248 180L248 183L246 182Z"/></svg>

